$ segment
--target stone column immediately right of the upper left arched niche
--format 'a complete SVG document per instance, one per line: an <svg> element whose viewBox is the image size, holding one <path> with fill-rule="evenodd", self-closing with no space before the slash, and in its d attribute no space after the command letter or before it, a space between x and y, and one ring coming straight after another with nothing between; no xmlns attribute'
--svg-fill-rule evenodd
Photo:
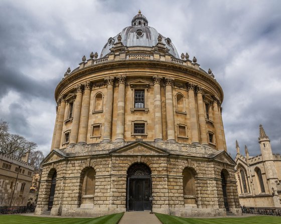
<svg viewBox="0 0 281 224"><path fill-rule="evenodd" d="M113 108L113 84L114 76L104 78L107 84L107 95L104 112L104 131L102 142L111 141L111 129L112 129L112 108Z"/></svg>

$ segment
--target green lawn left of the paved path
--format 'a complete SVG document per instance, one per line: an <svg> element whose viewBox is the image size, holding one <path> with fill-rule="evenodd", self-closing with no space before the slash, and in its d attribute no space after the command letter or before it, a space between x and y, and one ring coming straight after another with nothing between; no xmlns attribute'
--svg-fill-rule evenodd
<svg viewBox="0 0 281 224"><path fill-rule="evenodd" d="M124 212L109 214L94 218L71 218L71 217L36 217L18 214L0 215L0 223L5 224L117 224Z"/></svg>

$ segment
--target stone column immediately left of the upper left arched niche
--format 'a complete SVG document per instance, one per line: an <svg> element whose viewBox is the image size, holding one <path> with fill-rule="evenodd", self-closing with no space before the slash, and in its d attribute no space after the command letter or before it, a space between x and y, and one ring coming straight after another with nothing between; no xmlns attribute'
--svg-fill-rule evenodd
<svg viewBox="0 0 281 224"><path fill-rule="evenodd" d="M88 121L89 121L89 108L90 108L90 95L91 95L91 82L86 81L84 85L84 94L81 107L81 119L79 127L78 143L87 143Z"/></svg>

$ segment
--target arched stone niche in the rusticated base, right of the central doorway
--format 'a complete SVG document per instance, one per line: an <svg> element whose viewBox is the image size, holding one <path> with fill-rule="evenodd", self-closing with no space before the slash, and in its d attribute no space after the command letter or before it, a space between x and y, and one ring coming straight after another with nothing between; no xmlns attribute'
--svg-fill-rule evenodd
<svg viewBox="0 0 281 224"><path fill-rule="evenodd" d="M185 204L196 204L196 191L194 172L191 168L184 168L183 170L183 191Z"/></svg>

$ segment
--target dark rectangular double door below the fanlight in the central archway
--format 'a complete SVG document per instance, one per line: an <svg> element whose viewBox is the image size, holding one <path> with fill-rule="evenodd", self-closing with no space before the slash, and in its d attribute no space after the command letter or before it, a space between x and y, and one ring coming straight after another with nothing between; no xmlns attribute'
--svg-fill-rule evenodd
<svg viewBox="0 0 281 224"><path fill-rule="evenodd" d="M130 178L129 179L129 210L143 211L151 209L151 179Z"/></svg>

